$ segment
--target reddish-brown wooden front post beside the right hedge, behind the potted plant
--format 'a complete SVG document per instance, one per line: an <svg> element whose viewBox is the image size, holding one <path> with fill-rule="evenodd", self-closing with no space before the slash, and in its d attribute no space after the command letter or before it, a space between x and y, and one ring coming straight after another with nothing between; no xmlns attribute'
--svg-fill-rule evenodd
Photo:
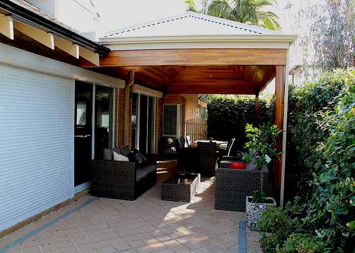
<svg viewBox="0 0 355 253"><path fill-rule="evenodd" d="M283 111L284 111L284 96L285 96L285 66L276 65L276 80L275 80L275 124L279 129L283 130ZM276 138L277 150L282 150L282 134ZM279 199L281 188L282 175L282 155L280 160L274 159L273 176L273 195L275 199Z"/></svg>

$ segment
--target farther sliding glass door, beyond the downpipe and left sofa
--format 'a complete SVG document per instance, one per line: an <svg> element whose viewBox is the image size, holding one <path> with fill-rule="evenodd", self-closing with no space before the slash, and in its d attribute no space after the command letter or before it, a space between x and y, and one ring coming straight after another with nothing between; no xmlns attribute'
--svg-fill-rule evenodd
<svg viewBox="0 0 355 253"><path fill-rule="evenodd" d="M131 143L141 153L154 153L155 98L132 95Z"/></svg>

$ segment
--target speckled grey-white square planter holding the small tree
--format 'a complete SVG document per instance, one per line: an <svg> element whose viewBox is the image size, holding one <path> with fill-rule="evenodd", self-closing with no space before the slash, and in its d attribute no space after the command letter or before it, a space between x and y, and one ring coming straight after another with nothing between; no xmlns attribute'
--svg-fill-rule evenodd
<svg viewBox="0 0 355 253"><path fill-rule="evenodd" d="M273 203L253 203L250 202L251 198L253 197L246 196L246 225L250 228L256 228L263 211L270 205L276 206L276 201L268 197L267 199L271 199Z"/></svg>

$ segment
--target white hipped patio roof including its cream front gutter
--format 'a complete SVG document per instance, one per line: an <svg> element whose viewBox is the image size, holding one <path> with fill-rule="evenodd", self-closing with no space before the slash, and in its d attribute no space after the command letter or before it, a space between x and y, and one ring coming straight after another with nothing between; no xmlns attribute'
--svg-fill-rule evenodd
<svg viewBox="0 0 355 253"><path fill-rule="evenodd" d="M100 38L99 43L112 50L288 49L296 38L297 35L294 34L283 34L254 25L189 12L109 32Z"/></svg>

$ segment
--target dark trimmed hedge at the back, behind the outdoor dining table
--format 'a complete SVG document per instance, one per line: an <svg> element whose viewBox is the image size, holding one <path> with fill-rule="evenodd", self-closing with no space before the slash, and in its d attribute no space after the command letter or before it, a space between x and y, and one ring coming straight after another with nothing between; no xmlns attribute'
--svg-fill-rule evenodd
<svg viewBox="0 0 355 253"><path fill-rule="evenodd" d="M240 150L247 141L245 124L255 123L255 98L209 96L208 138L230 140L236 138L236 149ZM259 123L273 121L273 106L266 100L259 101Z"/></svg>

